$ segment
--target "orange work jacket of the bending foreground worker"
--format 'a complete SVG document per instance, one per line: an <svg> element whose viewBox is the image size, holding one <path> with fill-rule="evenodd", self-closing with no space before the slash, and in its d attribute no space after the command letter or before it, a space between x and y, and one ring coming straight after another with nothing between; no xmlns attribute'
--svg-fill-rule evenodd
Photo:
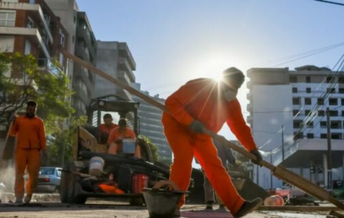
<svg viewBox="0 0 344 218"><path fill-rule="evenodd" d="M197 119L217 133L227 122L230 130L247 150L256 149L239 101L224 100L219 84L221 83L208 78L191 80L170 95L165 106L176 121L186 126Z"/></svg>

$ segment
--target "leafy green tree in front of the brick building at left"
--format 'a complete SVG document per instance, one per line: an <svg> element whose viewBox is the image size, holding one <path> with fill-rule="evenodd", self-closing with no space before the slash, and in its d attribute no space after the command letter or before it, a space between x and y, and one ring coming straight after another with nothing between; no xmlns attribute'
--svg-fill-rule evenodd
<svg viewBox="0 0 344 218"><path fill-rule="evenodd" d="M73 94L69 82L57 66L54 74L40 71L37 60L30 54L0 53L0 125L8 126L10 117L24 110L30 99L38 103L37 115L44 119L46 133L56 133L61 129L61 122L57 121L74 113L66 101Z"/></svg>

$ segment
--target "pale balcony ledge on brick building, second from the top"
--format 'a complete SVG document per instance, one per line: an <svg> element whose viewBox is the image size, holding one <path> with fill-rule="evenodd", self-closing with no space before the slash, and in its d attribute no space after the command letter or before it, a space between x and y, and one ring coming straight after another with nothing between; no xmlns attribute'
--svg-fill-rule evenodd
<svg viewBox="0 0 344 218"><path fill-rule="evenodd" d="M31 36L42 48L43 54L50 59L50 54L45 42L37 28L0 26L0 35L26 35Z"/></svg>

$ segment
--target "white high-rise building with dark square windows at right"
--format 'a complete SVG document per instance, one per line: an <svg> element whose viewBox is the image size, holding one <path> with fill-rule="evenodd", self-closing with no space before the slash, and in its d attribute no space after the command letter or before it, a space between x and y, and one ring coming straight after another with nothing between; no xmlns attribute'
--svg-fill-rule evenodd
<svg viewBox="0 0 344 218"><path fill-rule="evenodd" d="M329 107L332 177L343 179L344 75L316 66L295 70L251 68L247 75L250 79L247 122L260 150L272 151L274 165L281 163L306 179L326 186L326 108ZM270 162L270 156L265 160ZM271 181L269 170L259 167L254 170L254 181L264 188L282 185L276 177Z"/></svg>

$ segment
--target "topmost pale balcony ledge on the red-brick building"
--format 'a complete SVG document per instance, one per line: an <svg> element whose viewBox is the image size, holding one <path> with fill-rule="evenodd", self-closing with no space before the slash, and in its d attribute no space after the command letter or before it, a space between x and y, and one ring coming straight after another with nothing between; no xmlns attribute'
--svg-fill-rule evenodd
<svg viewBox="0 0 344 218"><path fill-rule="evenodd" d="M53 36L51 34L49 23L46 21L40 4L16 3L16 2L0 2L0 9L6 10L26 10L35 11L43 23L43 27L47 33L50 43L53 44Z"/></svg>

